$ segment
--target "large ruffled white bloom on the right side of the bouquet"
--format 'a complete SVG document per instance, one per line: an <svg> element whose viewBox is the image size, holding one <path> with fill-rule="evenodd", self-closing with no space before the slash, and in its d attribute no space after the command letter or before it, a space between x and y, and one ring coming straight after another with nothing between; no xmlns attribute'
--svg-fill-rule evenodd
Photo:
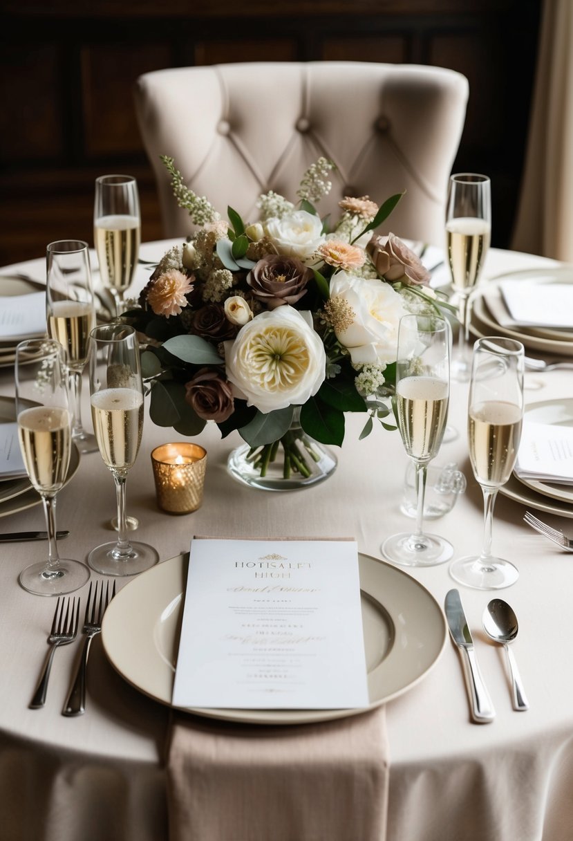
<svg viewBox="0 0 573 841"><path fill-rule="evenodd" d="M352 362L387 365L396 361L398 324L408 315L402 297L378 278L358 278L336 272L330 281L330 299L347 306L351 324L337 330L336 338L348 348Z"/></svg>

